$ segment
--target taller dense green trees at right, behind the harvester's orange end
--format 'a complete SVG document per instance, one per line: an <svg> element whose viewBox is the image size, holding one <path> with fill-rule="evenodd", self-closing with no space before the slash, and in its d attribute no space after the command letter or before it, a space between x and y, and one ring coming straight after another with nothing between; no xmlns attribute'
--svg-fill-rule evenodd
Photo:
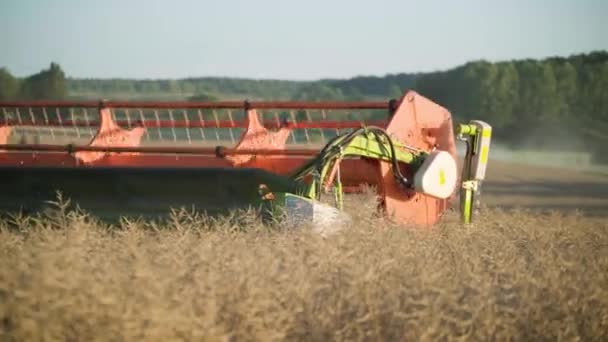
<svg viewBox="0 0 608 342"><path fill-rule="evenodd" d="M416 89L460 119L482 118L514 146L593 148L608 143L608 53L500 63L425 74Z"/></svg>

